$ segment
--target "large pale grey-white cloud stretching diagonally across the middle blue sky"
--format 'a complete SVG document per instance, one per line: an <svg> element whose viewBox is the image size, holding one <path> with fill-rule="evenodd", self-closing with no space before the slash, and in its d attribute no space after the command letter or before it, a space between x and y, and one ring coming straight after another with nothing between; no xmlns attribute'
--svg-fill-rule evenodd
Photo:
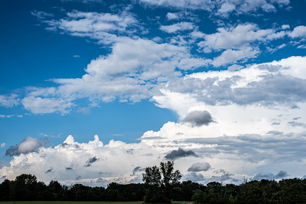
<svg viewBox="0 0 306 204"><path fill-rule="evenodd" d="M181 71L209 61L193 57L184 46L127 38L115 43L109 55L92 60L82 78L53 79L60 84L56 88L31 88L22 104L33 113L65 114L73 107L70 101L77 98L137 102L150 98L153 87L181 76ZM88 108L78 111L88 113Z"/></svg>

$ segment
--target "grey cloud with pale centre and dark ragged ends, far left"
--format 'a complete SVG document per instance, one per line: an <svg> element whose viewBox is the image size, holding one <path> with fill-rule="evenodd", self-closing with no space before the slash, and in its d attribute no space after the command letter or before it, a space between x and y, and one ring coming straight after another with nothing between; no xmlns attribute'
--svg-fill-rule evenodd
<svg viewBox="0 0 306 204"><path fill-rule="evenodd" d="M15 146L10 146L6 149L5 155L17 156L20 154L27 154L36 151L38 147L42 147L48 143L49 141L47 137L43 137L39 140L33 137L26 137L19 144L15 144Z"/></svg>

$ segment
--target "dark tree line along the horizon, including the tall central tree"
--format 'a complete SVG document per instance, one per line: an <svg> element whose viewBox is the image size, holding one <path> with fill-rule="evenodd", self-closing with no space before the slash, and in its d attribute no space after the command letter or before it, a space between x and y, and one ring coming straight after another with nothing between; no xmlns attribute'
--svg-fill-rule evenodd
<svg viewBox="0 0 306 204"><path fill-rule="evenodd" d="M23 173L15 180L5 179L0 184L0 201L144 201L146 203L170 203L194 201L201 203L304 203L306 179L293 178L280 181L248 180L241 184L179 181L181 173L174 171L173 162L161 162L160 166L147 167L144 183L118 184L104 187L83 184L62 185L51 180L47 185L37 181L32 174Z"/></svg>

